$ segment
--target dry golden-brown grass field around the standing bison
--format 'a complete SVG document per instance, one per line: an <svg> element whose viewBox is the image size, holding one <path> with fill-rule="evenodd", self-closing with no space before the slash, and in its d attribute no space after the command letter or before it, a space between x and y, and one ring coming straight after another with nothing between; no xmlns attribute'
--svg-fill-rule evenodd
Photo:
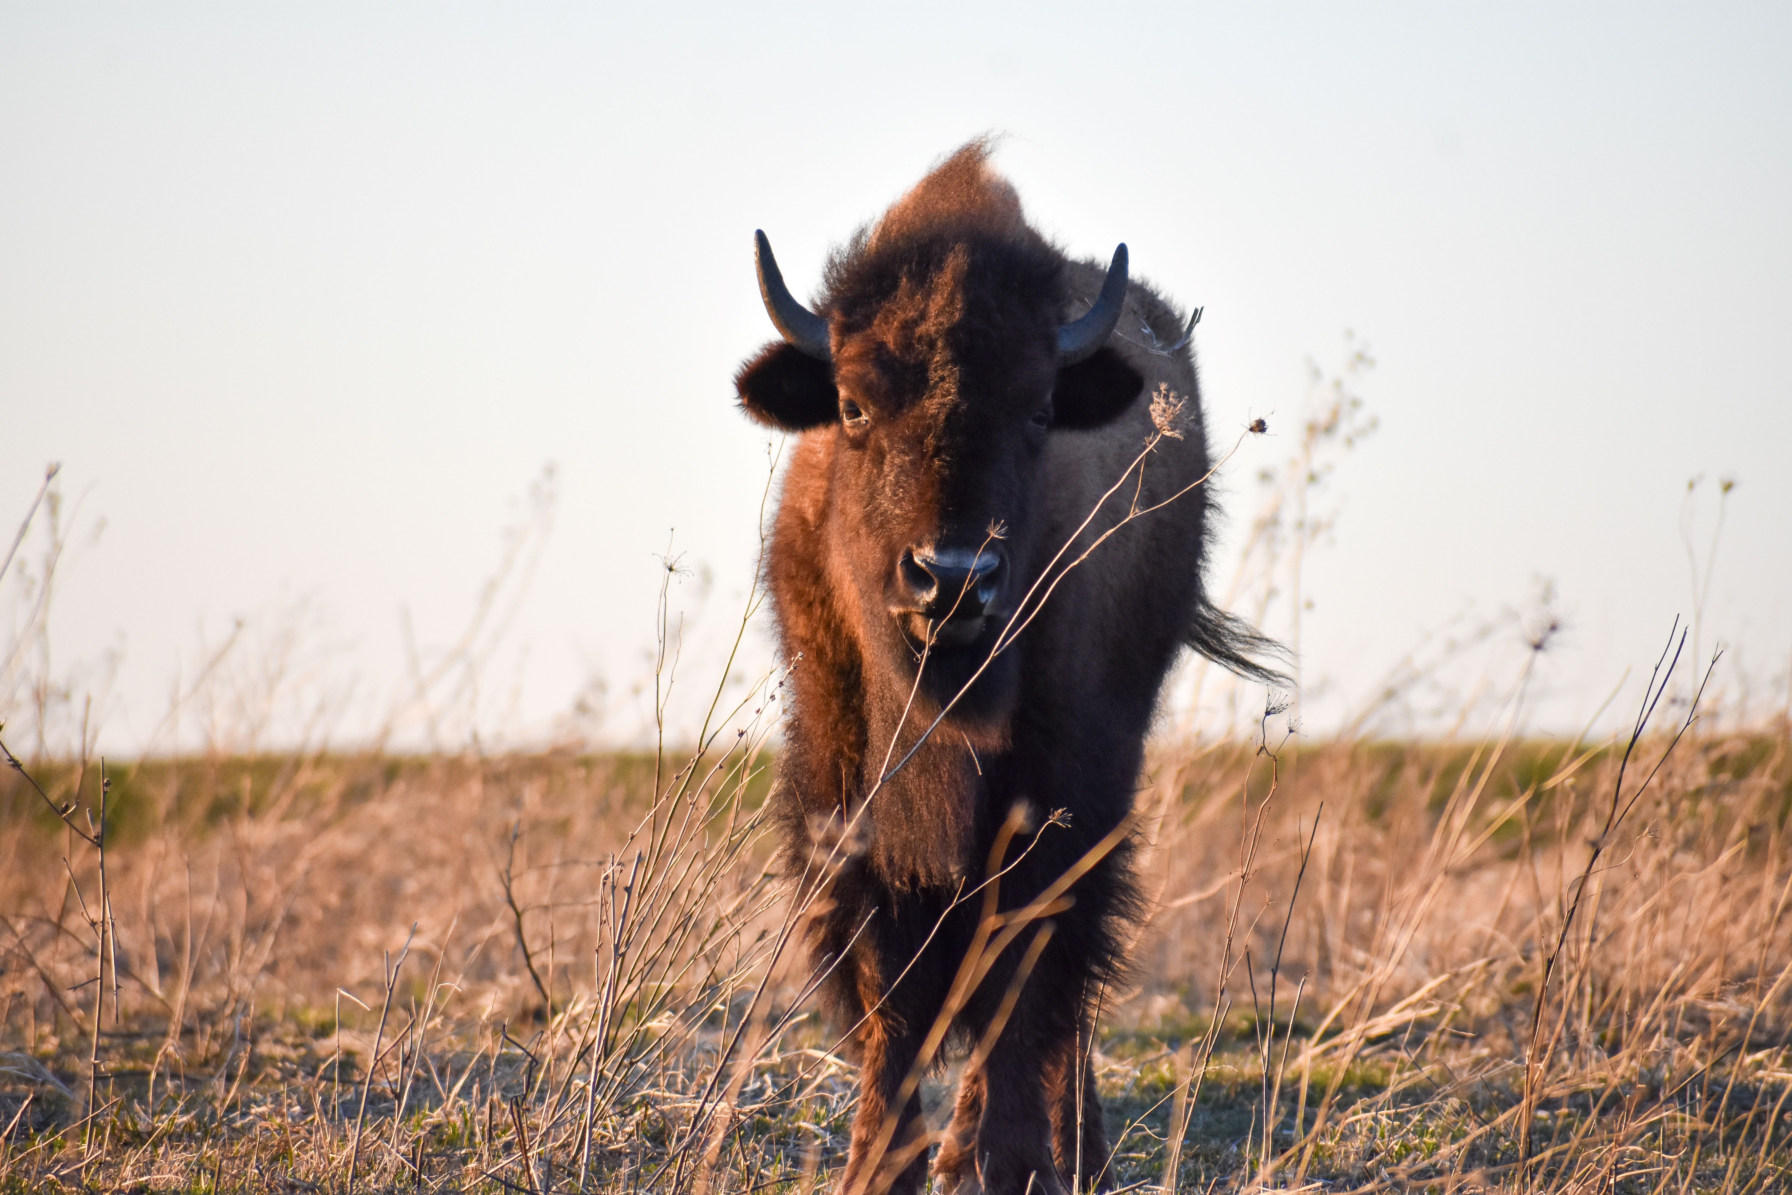
<svg viewBox="0 0 1792 1195"><path fill-rule="evenodd" d="M1159 744L1109 1181L1787 1190L1788 727L1674 729ZM0 1188L824 1184L765 735L0 776Z"/></svg>

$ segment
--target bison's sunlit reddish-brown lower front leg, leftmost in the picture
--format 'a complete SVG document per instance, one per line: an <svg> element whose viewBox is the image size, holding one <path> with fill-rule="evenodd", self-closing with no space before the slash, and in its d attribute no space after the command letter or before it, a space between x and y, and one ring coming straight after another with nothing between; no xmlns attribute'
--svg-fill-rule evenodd
<svg viewBox="0 0 1792 1195"><path fill-rule="evenodd" d="M919 1091L901 1095L919 1041L873 1019L858 1039L858 1114L839 1195L919 1195L926 1186L926 1120Z"/></svg>

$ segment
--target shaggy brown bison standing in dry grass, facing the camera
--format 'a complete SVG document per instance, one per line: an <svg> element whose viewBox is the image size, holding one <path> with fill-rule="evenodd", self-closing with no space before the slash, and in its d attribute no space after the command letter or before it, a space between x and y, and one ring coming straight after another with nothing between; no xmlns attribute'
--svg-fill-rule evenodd
<svg viewBox="0 0 1792 1195"><path fill-rule="evenodd" d="M1104 1182L1091 1036L1140 912L1159 690L1185 647L1272 675L1202 588L1193 321L1125 245L1070 260L987 158L835 249L814 308L758 233L781 339L735 378L799 434L765 561L796 661L774 812L860 1066L853 1195L926 1184L916 1080L953 1043L944 1190Z"/></svg>

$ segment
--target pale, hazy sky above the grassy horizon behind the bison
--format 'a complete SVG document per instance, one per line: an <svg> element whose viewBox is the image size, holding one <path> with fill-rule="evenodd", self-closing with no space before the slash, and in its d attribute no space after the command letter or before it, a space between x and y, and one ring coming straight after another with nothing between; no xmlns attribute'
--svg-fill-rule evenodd
<svg viewBox="0 0 1792 1195"><path fill-rule="evenodd" d="M996 133L1043 229L1206 308L1215 443L1271 423L1220 478L1219 577L1310 369L1369 348L1378 426L1301 579L1310 726L1543 586L1525 717L1579 724L1693 613L1719 478L1701 650L1770 708L1788 54L1785 5L4 4L0 548L50 460L73 530L48 663L0 701L25 717L34 668L127 754L206 718L367 736L421 679L466 715L410 708L409 742L620 742L665 579L701 713L778 448L733 408L772 335L753 229L808 292ZM0 632L45 543L39 514ZM170 724L238 620L229 686ZM1521 658L1500 629L1455 683ZM754 625L737 668L769 661Z"/></svg>

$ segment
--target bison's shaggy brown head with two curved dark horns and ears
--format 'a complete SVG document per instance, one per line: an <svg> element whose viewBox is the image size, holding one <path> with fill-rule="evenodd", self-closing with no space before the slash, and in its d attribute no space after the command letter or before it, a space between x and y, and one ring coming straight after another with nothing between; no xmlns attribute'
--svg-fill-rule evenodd
<svg viewBox="0 0 1792 1195"><path fill-rule="evenodd" d="M817 310L756 233L760 290L783 333L737 376L756 421L828 437L821 559L867 654L944 702L989 658L1050 554L1050 439L1100 426L1143 380L1106 348L1127 287L1120 245L1093 306L1068 262L966 147L837 251ZM842 584L844 582L844 584ZM785 611L788 616L790 611ZM955 715L1004 720L1014 654Z"/></svg>

